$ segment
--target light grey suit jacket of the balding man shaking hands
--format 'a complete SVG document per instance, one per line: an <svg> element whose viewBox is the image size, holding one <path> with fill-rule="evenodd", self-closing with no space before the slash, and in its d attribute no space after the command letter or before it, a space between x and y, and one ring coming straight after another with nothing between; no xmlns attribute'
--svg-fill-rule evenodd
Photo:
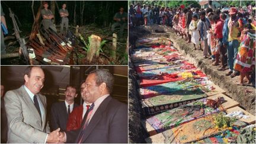
<svg viewBox="0 0 256 144"><path fill-rule="evenodd" d="M42 123L37 108L23 86L5 94L8 143L44 143L50 127L46 120L46 97L41 94L38 97L44 107Z"/></svg>

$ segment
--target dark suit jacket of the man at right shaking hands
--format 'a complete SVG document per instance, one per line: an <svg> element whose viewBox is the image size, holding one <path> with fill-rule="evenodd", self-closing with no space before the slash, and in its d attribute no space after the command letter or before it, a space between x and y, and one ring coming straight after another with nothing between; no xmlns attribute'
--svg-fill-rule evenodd
<svg viewBox="0 0 256 144"><path fill-rule="evenodd" d="M81 129L66 132L67 143L77 143ZM85 129L81 143L127 143L128 106L108 96Z"/></svg>

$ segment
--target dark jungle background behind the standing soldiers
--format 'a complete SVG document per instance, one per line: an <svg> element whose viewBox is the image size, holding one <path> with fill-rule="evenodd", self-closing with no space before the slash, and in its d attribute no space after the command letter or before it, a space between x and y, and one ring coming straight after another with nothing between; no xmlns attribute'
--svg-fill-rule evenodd
<svg viewBox="0 0 256 144"><path fill-rule="evenodd" d="M22 31L21 37L27 39L30 36L32 26L41 4L44 1L1 1L2 9L5 13L5 20L11 36L13 31L12 20L9 17L9 9L16 15L18 27ZM102 40L107 42L103 46L103 53L105 56L110 56L110 49L112 47L111 24L114 23L113 17L116 12L119 12L120 7L127 12L127 1L46 1L49 8L55 15L53 23L59 33L60 29L60 15L59 9L62 4L66 4L66 9L69 11L69 29L74 33L76 25L79 25L79 33L88 41L91 34L100 36ZM40 17L42 20L42 17ZM7 37L7 36L5 36ZM117 39L117 58L115 60L107 60L108 65L127 65L126 50L127 28L124 30L123 37ZM18 52L18 43L15 40L5 40L7 46L7 53ZM83 57L83 56L80 56ZM106 61L106 60L104 60ZM4 65L20 65L23 64L20 59L1 59L1 64ZM97 64L97 63L96 63Z"/></svg>

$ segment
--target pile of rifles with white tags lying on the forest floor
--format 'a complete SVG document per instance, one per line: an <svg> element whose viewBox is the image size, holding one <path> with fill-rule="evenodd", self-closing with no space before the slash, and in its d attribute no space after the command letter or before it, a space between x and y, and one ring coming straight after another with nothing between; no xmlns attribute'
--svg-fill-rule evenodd
<svg viewBox="0 0 256 144"><path fill-rule="evenodd" d="M74 45L69 39L62 34L57 34L51 28L40 29L43 39L42 44L39 38L34 38L26 44L28 48L32 48L36 54L36 59L41 64L65 65L69 62L68 52L71 52Z"/></svg>

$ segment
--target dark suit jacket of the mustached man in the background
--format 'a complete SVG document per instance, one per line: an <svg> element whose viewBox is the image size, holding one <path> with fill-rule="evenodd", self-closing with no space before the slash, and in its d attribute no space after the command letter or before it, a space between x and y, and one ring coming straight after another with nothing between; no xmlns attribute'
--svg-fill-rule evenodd
<svg viewBox="0 0 256 144"><path fill-rule="evenodd" d="M78 104L73 105L73 109L78 107ZM68 113L65 105L65 101L54 103L51 110L51 130L56 130L60 127L60 131L66 130L66 124L68 121Z"/></svg>

